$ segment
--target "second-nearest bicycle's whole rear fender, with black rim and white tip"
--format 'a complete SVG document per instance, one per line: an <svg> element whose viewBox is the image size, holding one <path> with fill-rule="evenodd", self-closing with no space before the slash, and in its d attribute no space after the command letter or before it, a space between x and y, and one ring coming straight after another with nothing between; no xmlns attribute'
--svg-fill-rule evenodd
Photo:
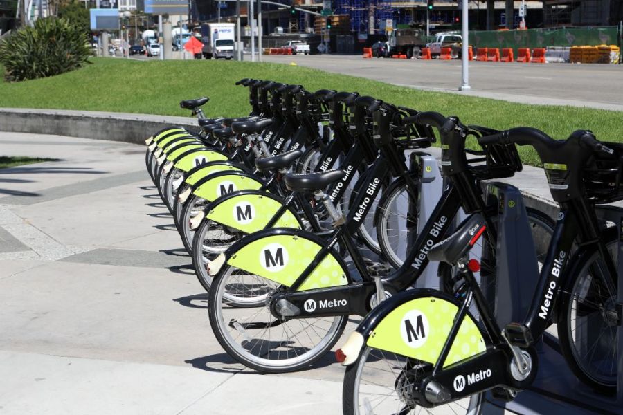
<svg viewBox="0 0 623 415"><path fill-rule="evenodd" d="M284 286L291 286L327 241L311 232L291 228L260 230L240 239L219 255L215 265L227 263ZM208 265L210 275L218 270ZM332 248L308 275L298 291L348 284L347 268Z"/></svg>

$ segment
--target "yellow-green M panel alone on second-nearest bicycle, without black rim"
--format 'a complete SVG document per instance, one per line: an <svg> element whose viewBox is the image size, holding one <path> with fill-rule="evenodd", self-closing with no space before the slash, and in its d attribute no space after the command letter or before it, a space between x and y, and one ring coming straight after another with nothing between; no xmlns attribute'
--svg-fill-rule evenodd
<svg viewBox="0 0 623 415"><path fill-rule="evenodd" d="M256 239L237 250L227 263L285 286L291 286L303 273L320 245L294 235L270 235ZM298 291L343 286L346 272L329 252L301 284Z"/></svg>

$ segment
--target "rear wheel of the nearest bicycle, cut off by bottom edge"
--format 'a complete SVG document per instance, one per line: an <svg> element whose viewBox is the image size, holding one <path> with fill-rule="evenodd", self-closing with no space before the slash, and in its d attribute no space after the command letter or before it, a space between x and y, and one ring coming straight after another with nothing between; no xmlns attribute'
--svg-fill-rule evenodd
<svg viewBox="0 0 623 415"><path fill-rule="evenodd" d="M430 365L366 346L356 362L346 369L342 393L343 413L480 414L484 394L475 394L434 408L418 406L412 397L413 387L424 378L426 367Z"/></svg>

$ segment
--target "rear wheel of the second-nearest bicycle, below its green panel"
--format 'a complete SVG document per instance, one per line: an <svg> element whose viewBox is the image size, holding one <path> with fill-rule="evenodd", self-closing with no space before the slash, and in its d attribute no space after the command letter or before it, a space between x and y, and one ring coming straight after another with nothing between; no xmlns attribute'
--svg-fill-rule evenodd
<svg viewBox="0 0 623 415"><path fill-rule="evenodd" d="M280 320L267 304L278 289L269 279L228 265L210 287L208 314L215 337L229 356L265 373L314 364L334 346L347 322L346 316ZM245 298L261 304L236 308Z"/></svg>

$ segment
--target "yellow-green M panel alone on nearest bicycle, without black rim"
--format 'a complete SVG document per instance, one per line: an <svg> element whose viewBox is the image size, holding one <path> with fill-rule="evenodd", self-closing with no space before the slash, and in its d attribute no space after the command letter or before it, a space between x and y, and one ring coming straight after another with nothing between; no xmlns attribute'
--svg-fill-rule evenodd
<svg viewBox="0 0 623 415"><path fill-rule="evenodd" d="M395 308L374 327L366 344L374 349L435 363L452 328L458 307L438 297L412 299ZM467 315L444 367L485 351L485 340Z"/></svg>

